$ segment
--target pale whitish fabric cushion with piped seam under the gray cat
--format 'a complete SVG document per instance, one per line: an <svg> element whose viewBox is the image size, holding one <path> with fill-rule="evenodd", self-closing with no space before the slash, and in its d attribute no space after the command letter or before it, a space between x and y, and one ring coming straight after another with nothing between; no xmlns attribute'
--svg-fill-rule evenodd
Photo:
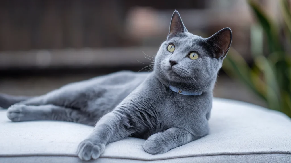
<svg viewBox="0 0 291 163"><path fill-rule="evenodd" d="M214 98L209 125L209 135L164 154L148 154L145 140L127 138L89 162L291 162L291 119L283 113ZM0 162L86 162L76 150L92 130L60 121L11 122L0 110Z"/></svg>

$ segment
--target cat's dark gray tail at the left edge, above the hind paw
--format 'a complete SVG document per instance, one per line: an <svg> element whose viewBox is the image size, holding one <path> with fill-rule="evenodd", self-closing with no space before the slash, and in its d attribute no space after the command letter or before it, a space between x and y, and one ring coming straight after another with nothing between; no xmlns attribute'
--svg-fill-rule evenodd
<svg viewBox="0 0 291 163"><path fill-rule="evenodd" d="M0 93L0 108L7 109L9 106L19 103L21 101L28 100L32 97L29 96L12 96L8 94L2 94Z"/></svg>

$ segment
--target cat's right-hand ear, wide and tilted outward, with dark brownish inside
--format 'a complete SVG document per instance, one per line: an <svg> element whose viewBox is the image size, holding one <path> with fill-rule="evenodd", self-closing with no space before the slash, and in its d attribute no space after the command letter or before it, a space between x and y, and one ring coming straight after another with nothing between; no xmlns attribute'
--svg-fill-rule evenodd
<svg viewBox="0 0 291 163"><path fill-rule="evenodd" d="M230 28L223 28L211 37L207 38L207 42L212 45L216 58L224 58L230 48L232 37Z"/></svg>

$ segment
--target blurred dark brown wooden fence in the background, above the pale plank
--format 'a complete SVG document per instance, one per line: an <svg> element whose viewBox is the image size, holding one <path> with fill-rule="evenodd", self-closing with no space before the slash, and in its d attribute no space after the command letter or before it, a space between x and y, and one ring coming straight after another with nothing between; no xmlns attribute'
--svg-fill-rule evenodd
<svg viewBox="0 0 291 163"><path fill-rule="evenodd" d="M132 6L203 8L204 2L1 0L0 51L134 46L124 22ZM175 4L175 5L173 5Z"/></svg>

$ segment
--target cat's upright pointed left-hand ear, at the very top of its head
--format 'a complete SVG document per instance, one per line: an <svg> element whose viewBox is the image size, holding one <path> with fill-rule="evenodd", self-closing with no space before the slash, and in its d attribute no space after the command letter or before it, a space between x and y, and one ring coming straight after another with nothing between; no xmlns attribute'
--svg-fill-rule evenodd
<svg viewBox="0 0 291 163"><path fill-rule="evenodd" d="M177 10L174 11L170 23L170 29L167 38L170 35L174 35L176 33L183 33L183 32L188 32L186 27L184 26L182 19L180 17L180 14Z"/></svg>

